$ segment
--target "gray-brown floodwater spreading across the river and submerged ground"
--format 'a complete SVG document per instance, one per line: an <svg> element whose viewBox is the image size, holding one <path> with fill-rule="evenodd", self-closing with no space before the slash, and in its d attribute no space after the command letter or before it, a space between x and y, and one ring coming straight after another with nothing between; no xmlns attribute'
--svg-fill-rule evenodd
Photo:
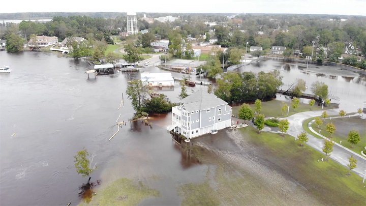
<svg viewBox="0 0 366 206"><path fill-rule="evenodd" d="M281 64L267 61L246 69L268 71L281 69ZM117 131L112 126L118 115L121 114L120 121L126 122L134 113L125 91L127 81L137 78L138 73L131 73L131 79L125 73L87 78L84 72L91 66L83 60L27 51L0 52L0 65L12 69L10 74L0 75L1 205L66 205L70 201L77 204L79 187L87 178L77 174L74 155L83 147L97 155L99 169L92 174L92 181L101 180L97 187L119 178L146 180L159 176L154 188L161 197L141 204L180 204L176 187L199 182L206 175L208 165L189 158L166 131L171 124L170 113L154 115L151 128L140 121L128 123L108 141ZM296 66L290 68L281 71L284 82L290 83L295 76L304 78ZM143 71L155 72L157 68ZM360 107L358 103L365 99L364 80L356 82L359 75L339 72L353 79L347 81L341 73L337 74L338 79L327 77L329 74L315 79L331 84L332 90L338 88L338 92L342 87L356 91L354 101ZM315 75L313 71L308 79ZM193 79L207 81L198 76ZM201 88L205 87L197 85L188 92ZM175 85L174 90L160 92L177 102L180 88ZM123 93L125 104L117 110ZM352 95L340 95L341 108L352 104Z"/></svg>

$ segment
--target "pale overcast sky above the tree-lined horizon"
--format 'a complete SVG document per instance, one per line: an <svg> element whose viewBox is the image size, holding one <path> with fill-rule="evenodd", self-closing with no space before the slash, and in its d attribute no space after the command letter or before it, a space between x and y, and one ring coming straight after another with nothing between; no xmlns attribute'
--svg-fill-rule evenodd
<svg viewBox="0 0 366 206"><path fill-rule="evenodd" d="M286 13L366 16L366 0L63 0L6 1L1 13L13 12L171 12Z"/></svg>

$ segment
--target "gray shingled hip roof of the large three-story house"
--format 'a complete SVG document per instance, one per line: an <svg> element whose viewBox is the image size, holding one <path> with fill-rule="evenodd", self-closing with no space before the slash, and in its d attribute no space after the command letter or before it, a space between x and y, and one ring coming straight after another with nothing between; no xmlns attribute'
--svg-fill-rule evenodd
<svg viewBox="0 0 366 206"><path fill-rule="evenodd" d="M181 99L180 102L184 104L188 112L205 110L227 104L224 100L218 98L214 94L207 93L205 90L199 90L192 95Z"/></svg>

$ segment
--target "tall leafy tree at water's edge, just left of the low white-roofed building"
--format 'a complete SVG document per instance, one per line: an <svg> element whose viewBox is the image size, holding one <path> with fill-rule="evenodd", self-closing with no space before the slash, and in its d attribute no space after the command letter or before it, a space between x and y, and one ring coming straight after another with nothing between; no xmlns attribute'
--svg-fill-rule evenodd
<svg viewBox="0 0 366 206"><path fill-rule="evenodd" d="M132 106L135 111L139 112L140 108L144 106L145 98L147 96L146 87L141 79L135 79L128 83L126 94L132 101Z"/></svg>

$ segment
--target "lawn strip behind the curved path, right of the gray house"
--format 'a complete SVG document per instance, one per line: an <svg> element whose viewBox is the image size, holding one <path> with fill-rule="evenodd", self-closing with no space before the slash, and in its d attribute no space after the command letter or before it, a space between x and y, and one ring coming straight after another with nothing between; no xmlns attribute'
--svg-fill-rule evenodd
<svg viewBox="0 0 366 206"><path fill-rule="evenodd" d="M303 112L303 111L311 111L309 104L303 104L300 103L299 107L295 109L292 108L291 106L291 102L285 102L288 106L290 106L289 109L289 114L287 115L287 109L284 112L284 115L282 115L282 101L279 100L271 100L271 101L266 101L263 102L262 101L262 110L260 111L260 113L263 113L264 116L273 116L273 117L287 117L290 116L292 114L298 113L298 112ZM250 104L250 106L252 107L253 111L254 111L254 104ZM239 108L240 106L233 106L232 109L232 113L234 115L238 115L239 112ZM324 107L326 109L331 109L332 107ZM312 110L320 110L321 106L313 106Z"/></svg>

